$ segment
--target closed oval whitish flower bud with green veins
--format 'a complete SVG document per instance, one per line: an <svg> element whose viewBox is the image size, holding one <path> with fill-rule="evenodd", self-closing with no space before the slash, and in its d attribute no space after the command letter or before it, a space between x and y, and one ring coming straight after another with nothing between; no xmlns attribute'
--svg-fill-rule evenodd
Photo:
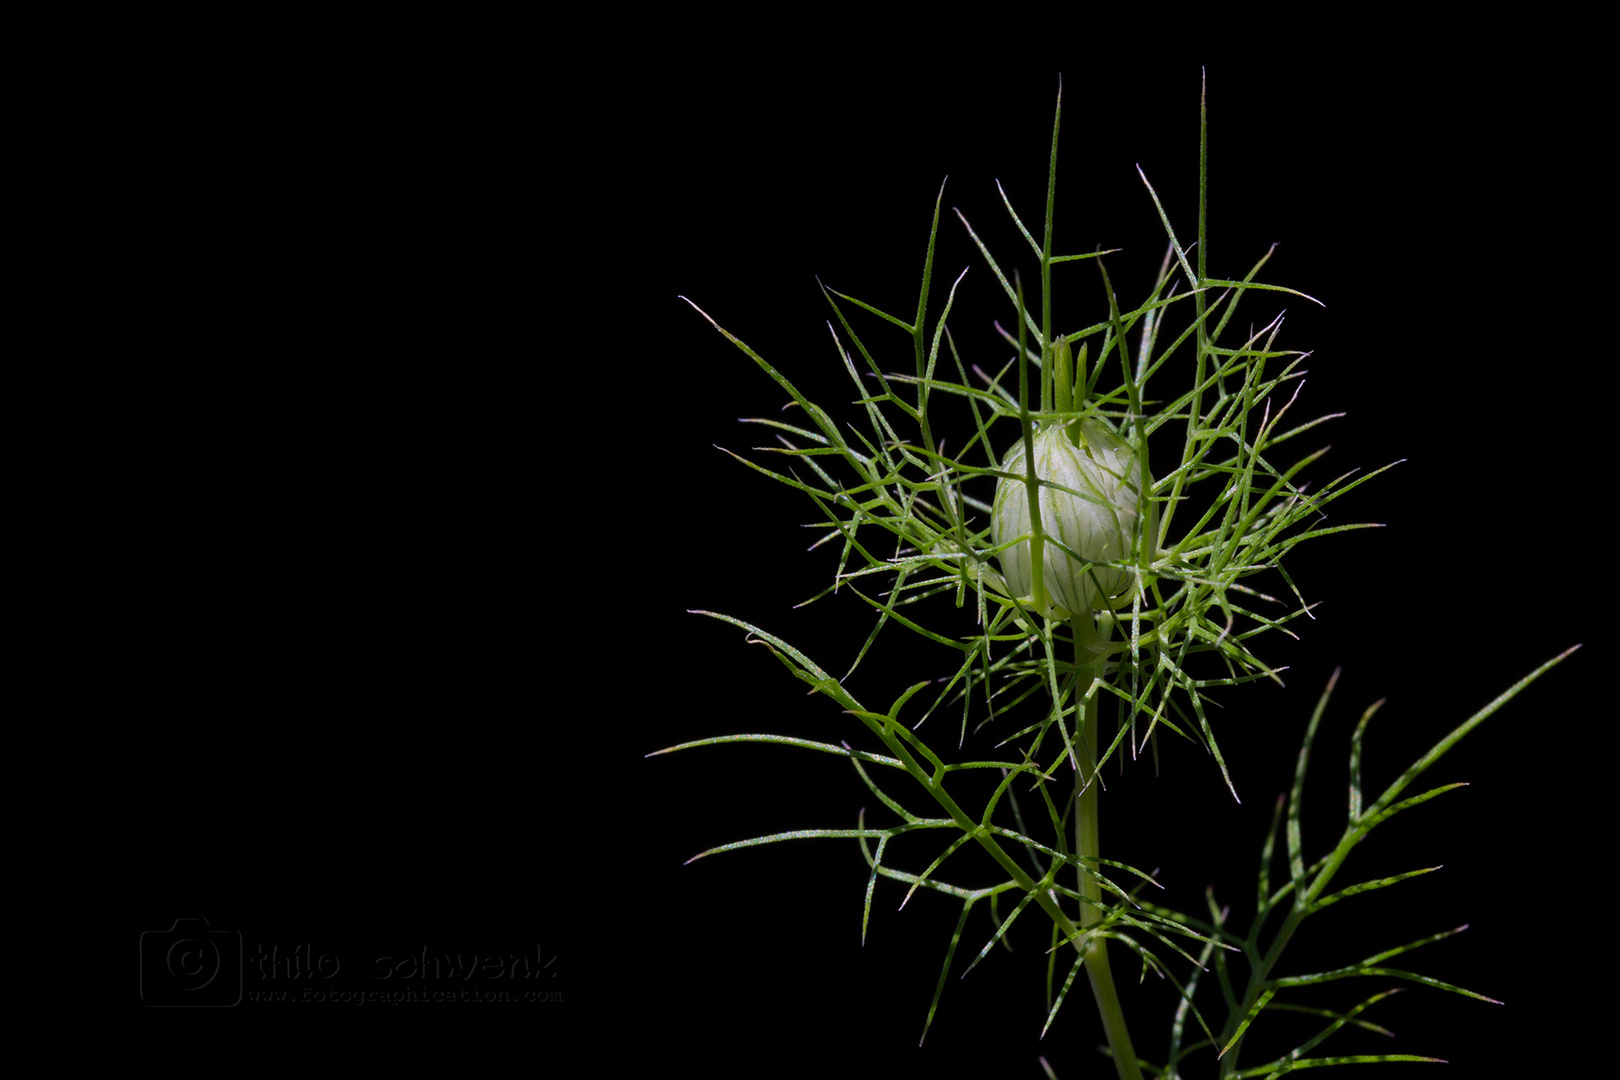
<svg viewBox="0 0 1620 1080"><path fill-rule="evenodd" d="M1069 619L1079 612L1118 607L1129 601L1136 575L1123 567L1097 562L1129 562L1142 544L1155 541L1157 513L1152 502L1142 507L1142 466L1136 450L1087 419L1079 424L1079 445L1069 440L1069 426L1051 424L1035 432L1035 476L1040 486L1040 521L1047 536L1042 544L1042 585L1047 593L1042 615ZM990 518L990 536L1000 547L1024 536L1000 554L1008 589L1022 602L1032 602L1035 588L1029 541L1029 484L1024 440L1013 444L996 484ZM1053 539L1059 541L1063 551ZM1072 554L1069 554L1072 552ZM1074 555L1079 555L1076 559Z"/></svg>

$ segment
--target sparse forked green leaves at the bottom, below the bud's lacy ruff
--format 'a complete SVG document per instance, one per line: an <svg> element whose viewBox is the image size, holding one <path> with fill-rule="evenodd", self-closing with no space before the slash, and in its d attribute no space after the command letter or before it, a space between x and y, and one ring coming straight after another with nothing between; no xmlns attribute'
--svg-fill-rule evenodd
<svg viewBox="0 0 1620 1080"><path fill-rule="evenodd" d="M711 612L703 612L711 614ZM1317 912L1338 904L1341 900L1353 899L1356 895L1372 892L1377 889L1385 889L1400 884L1409 878L1430 873L1437 870L1435 866L1413 870L1405 874L1395 874L1392 878L1380 878L1375 881L1362 881L1353 886L1346 886L1328 892L1328 886L1336 878L1338 871L1343 868L1345 860L1349 853L1372 834L1375 827L1387 823L1395 814L1419 806L1437 795L1443 795L1463 784L1447 784L1424 790L1418 795L1401 798L1411 784L1422 776L1435 761L1439 761L1452 746L1455 746L1464 735L1468 735L1474 727L1477 727L1486 717L1494 714L1503 704L1507 704L1513 696L1524 690L1531 682L1544 675L1554 665L1562 662L1575 648L1555 656L1547 661L1534 672L1513 683L1507 691L1497 696L1490 704L1482 708L1479 712L1466 719L1456 729L1453 729L1445 738L1437 742L1422 758L1414 761L1393 784L1390 784L1382 795L1379 795L1372 803L1366 803L1361 784L1361 746L1362 735L1367 729L1369 721L1374 712L1377 712L1379 704L1369 708L1358 724L1356 732L1351 738L1349 753L1349 806L1346 814L1345 832L1338 844L1324 857L1314 860L1312 863L1304 861L1304 840L1299 829L1299 810L1304 797L1304 777L1306 764L1311 756L1311 745L1315 738L1317 727L1327 709L1328 696L1333 690L1333 682L1328 682L1327 690L1322 693L1320 701L1311 722L1306 729L1304 743L1299 750L1299 759L1294 771L1294 784L1291 793L1286 798L1280 798L1277 803L1277 814L1272 821L1272 829L1267 834L1265 845L1260 855L1260 874L1259 886L1256 891L1256 915L1251 923L1249 933L1246 936L1234 934L1228 929L1228 912L1217 907L1213 895L1209 899L1209 918L1197 918L1183 912L1171 910L1168 907L1155 905L1152 902L1139 900L1137 889L1140 882L1155 884L1157 882L1144 871L1118 863L1115 860L1089 860L1081 858L1068 852L1064 845L1066 826L1069 808L1076 805L1074 798L1066 800L1068 808L1059 811L1050 797L1050 785L1038 784L1037 790L1042 795L1042 801L1051 819L1055 836L1058 837L1058 847L1053 848L1042 840L1029 836L1024 814L1017 806L1017 795L1013 785L1014 777L1019 774L1034 774L1035 767L1027 763L1014 761L964 761L957 764L946 764L938 755L935 755L927 743L904 724L899 722L899 711L917 691L925 688L928 683L917 683L910 687L888 712L873 712L860 706L854 696L850 696L831 675L816 667L808 657L789 646L786 641L774 638L757 627L739 622L726 615L716 615L716 619L724 619L737 627L750 631L752 640L766 644L771 653L791 670L795 677L813 687L815 690L833 696L839 704L842 704L852 716L859 717L883 743L891 750L893 756L865 753L852 750L847 743L834 746L829 743L818 743L805 738L789 738L781 735L721 735L716 738L703 738L690 743L682 743L679 746L669 746L667 750L659 750L654 753L674 753L677 750L688 750L693 746L710 746L731 742L755 742L755 743L781 743L791 746L802 746L808 750L818 750L823 753L833 753L850 761L860 779L873 792L873 795L901 819L899 824L873 829L867 827L865 811L860 813L857 827L854 829L795 829L792 832L778 832L773 836L753 837L748 840L739 840L734 844L724 844L721 847L710 848L693 855L692 860L703 858L706 855L718 855L721 852L732 852L744 847L755 847L760 844L774 844L781 840L800 840L800 839L857 839L860 842L862 853L867 858L872 873L867 879L867 895L865 907L862 910L862 941L865 941L867 926L872 916L872 895L878 876L891 878L894 881L906 882L909 886L906 899L901 902L904 907L917 889L928 889L944 895L956 897L961 900L962 910L957 918L956 929L951 934L949 946L946 947L944 963L940 970L940 980L935 986L933 999L928 1002L927 1020L923 1022L923 1036L927 1038L928 1027L933 1023L933 1017L940 1007L940 997L944 993L946 976L951 972L953 960L956 957L956 949L962 941L962 933L967 926L967 918L980 900L987 902L991 923L995 929L990 938L980 947L978 954L969 962L967 968L962 972L966 976L980 960L988 955L988 952L1003 941L1008 929L1022 915L1030 902L1035 902L1048 918L1051 920L1051 949L1048 950L1048 1015L1047 1025L1042 1028L1045 1031L1050 1028L1053 1017L1063 1006L1069 989L1079 975L1085 946L1092 936L1106 938L1116 941L1121 946L1136 952L1145 968L1152 968L1157 975L1168 980L1181 996L1181 1006L1174 1014L1170 1033L1170 1051L1166 1056L1166 1064L1158 1075L1163 1077L1179 1077L1181 1065L1191 1056L1218 1048L1220 1059L1220 1077L1280 1077L1286 1072L1296 1069L1309 1069L1319 1065L1338 1065L1338 1064L1369 1064L1369 1062L1388 1062L1388 1061L1439 1061L1434 1057L1414 1057L1409 1054L1375 1054L1375 1056L1341 1056L1341 1057L1307 1057L1307 1054L1315 1049L1324 1040L1343 1028L1345 1025L1356 1025L1364 1030L1380 1031L1388 1035L1383 1028L1361 1020L1361 1014L1367 1010L1375 1002L1382 1001L1393 991L1377 993L1358 1006L1338 1012L1333 1009L1312 1007L1306 1004L1296 1004L1290 997L1278 1001L1278 994L1291 994L1302 988L1317 986L1322 983L1332 983L1345 978L1367 978L1367 976L1383 976L1393 980L1405 980L1413 983L1421 983L1426 986L1434 986L1437 989L1452 991L1468 997L1477 997L1479 1001L1494 1001L1484 994L1476 994L1473 991L1452 986L1435 978L1419 975L1405 968L1388 967L1385 962L1426 946L1452 934L1466 929L1463 926L1456 929L1447 929L1437 934L1429 934L1418 941L1401 944L1392 949L1380 950L1362 960L1345 963L1338 968L1328 972L1315 972L1307 975L1290 975L1277 976L1272 972L1281 960L1283 950L1288 942L1298 933L1301 925ZM1580 646L1576 646L1580 648ZM1335 674L1336 680L1336 674ZM1380 703L1382 704L1382 703ZM651 755L650 755L651 756ZM881 784L878 784L872 772L865 766L881 766L885 769L894 769L901 772L909 772L917 784L935 800L935 803L944 810L944 816L925 818L909 811L897 797L891 795ZM954 772L967 769L998 769L1001 772L1001 782L996 785L995 793L985 801L983 810L972 816L962 810L962 806L953 797L948 780ZM1016 827L1000 826L991 821L1001 800L1006 798L1009 810L1013 813ZM1286 811L1286 816L1285 816ZM1277 836L1278 829L1286 821L1285 845L1288 860L1288 879L1286 882L1272 886L1272 866L1277 857ZM912 873L899 870L885 861L888 853L889 840L906 836L909 832L920 832L927 829L943 829L946 832L954 832L954 836L940 850L940 855L928 863L920 873ZM876 840L873 847L870 840ZM1008 871L1008 879L996 882L988 887L964 887L941 881L936 874L940 868L949 860L957 850L961 850L969 842L977 844L980 848L990 853L990 857ZM1017 845L1024 848L1024 857L1029 863L1025 870L1016 857L1011 853L1009 845ZM1106 894L1113 897L1113 902L1102 905L1102 920L1092 923L1085 929L1081 929L1074 920L1063 910L1059 899L1069 899L1074 902L1089 902L1084 897L1058 881L1058 873L1063 868L1077 868L1081 873L1094 878ZM1116 871L1124 871L1126 874L1139 879L1129 892L1126 892L1119 884L1110 879L1103 868L1113 868ZM1013 900L1013 910L1006 915L1000 910L1000 902L1003 897ZM1281 923L1275 928L1268 926L1275 921L1275 916L1281 916ZM1171 952L1187 962L1191 975L1186 981L1178 980L1171 970L1166 967L1163 959L1153 950L1152 946L1144 944L1150 941L1152 946L1162 950ZM1194 959L1184 947L1183 941L1200 942L1200 952ZM1069 963L1063 984L1053 993L1055 972L1058 954L1064 946L1074 947L1074 960ZM1236 981L1233 973L1234 960L1230 957L1241 957L1247 965L1249 978L1243 989L1241 997L1236 991ZM1215 980L1220 988L1221 999L1226 1006L1228 1020L1221 1028L1220 1035L1209 1027L1200 1014L1196 997L1200 983L1205 976L1213 972ZM1320 1015L1328 1020L1314 1038L1301 1043L1286 1056L1257 1065L1252 1069L1238 1070L1238 1052L1241 1051L1243 1038L1249 1027L1265 1009L1290 1009L1296 1012L1309 1012ZM1186 1028L1187 1017L1192 1017L1197 1025L1204 1030L1205 1038L1187 1043Z"/></svg>

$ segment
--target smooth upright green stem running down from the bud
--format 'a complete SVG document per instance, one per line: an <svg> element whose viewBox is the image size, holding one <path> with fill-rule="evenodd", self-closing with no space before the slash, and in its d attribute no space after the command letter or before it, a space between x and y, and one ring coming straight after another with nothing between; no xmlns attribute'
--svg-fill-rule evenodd
<svg viewBox="0 0 1620 1080"><path fill-rule="evenodd" d="M1077 669L1076 695L1084 695L1092 682L1102 674L1102 646L1106 638L1097 631L1097 622L1089 612L1082 612L1069 620L1074 631L1074 664ZM1094 648L1095 646L1095 648ZM1082 767L1090 769L1081 777L1081 797L1074 814L1074 852L1081 858L1098 858L1102 853L1097 834L1097 704L1098 693L1085 703L1085 717L1081 722L1079 743L1084 755ZM1081 929L1102 921L1102 886L1087 866L1079 868L1081 874ZM1124 1025L1124 1010L1119 1007L1119 994L1115 991L1113 972L1108 968L1108 939L1094 936L1085 944L1085 976L1092 983L1092 996L1097 999L1097 1010L1103 1018L1103 1031L1108 1035L1108 1049L1113 1051L1115 1065L1121 1080L1140 1080L1142 1069L1136 1061L1136 1048L1131 1046L1131 1031Z"/></svg>

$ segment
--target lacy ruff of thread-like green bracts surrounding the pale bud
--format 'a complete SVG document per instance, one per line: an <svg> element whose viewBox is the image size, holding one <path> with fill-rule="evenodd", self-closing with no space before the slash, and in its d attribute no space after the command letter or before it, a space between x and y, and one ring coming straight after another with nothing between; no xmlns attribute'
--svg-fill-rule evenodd
<svg viewBox="0 0 1620 1080"><path fill-rule="evenodd" d="M1301 374L1304 356L1277 348L1280 319L1241 340L1226 340L1234 332L1233 319L1241 301L1251 291L1291 291L1256 280L1268 253L1241 280L1210 277L1202 256L1204 214L1199 215L1199 264L1194 269L1160 209L1170 238L1166 259L1150 295L1126 311L1121 311L1098 257L1108 253L1051 254L1059 121L1061 96L1053 123L1040 243L1006 202L1013 222L1040 261L1038 319L1035 311L1025 309L1016 275L1009 277L969 228L1014 304L1017 332L1003 330L1016 347L1013 356L995 372L974 364L977 379L969 376L946 325L961 275L930 327L935 240L944 198L941 188L928 232L917 309L909 319L823 288L836 317L833 345L865 411L867 432L838 424L778 368L700 309L716 330L787 392L808 419L808 426L750 421L776 431L781 445L760 450L786 458L786 471L734 457L808 495L818 515L812 525L825 529L818 544L839 546L828 591L850 589L875 609L875 625L846 677L891 623L951 649L957 654L954 674L938 688L922 719L948 701L959 701L959 738L966 742L974 701L982 703L983 722L991 722L1042 687L1056 691L1071 670L1058 657L1074 644L1064 623L1047 623L1027 612L1022 602L1027 597L1013 596L993 563L1001 549L1024 539L1037 549L1042 544L1061 546L1058 538L1043 534L1038 515L1032 515L1027 538L993 546L990 504L995 484L1003 476L1019 478L1001 471L1003 453L998 447L1014 445L1019 439L1030 444L1042 424L1092 421L1106 426L1136 450L1144 473L1140 481L1150 492L1149 517L1157 517L1158 526L1128 559L1095 563L1129 572L1137 583L1129 610L1106 619L1103 627L1106 662L1115 677L1098 687L1116 699L1119 721L1118 737L1103 759L1121 748L1126 735L1134 755L1165 729L1202 742L1225 776L1225 759L1204 706L1205 693L1212 687L1275 678L1275 670L1254 653L1254 640L1272 630L1291 633L1288 623L1309 610L1283 568L1283 557L1307 539L1371 528L1324 526L1320 517L1324 507L1377 473L1338 476L1307 492L1296 481L1324 450L1291 460L1281 457L1285 444L1328 418L1285 426L1293 397L1283 400L1283 395L1298 390L1290 384ZM1202 191L1200 185L1200 204ZM1152 186L1149 194L1157 206ZM966 217L962 223L967 225ZM1097 322L1059 334L1051 325L1051 267L1077 259L1095 261L1106 313ZM909 372L885 371L876 359L876 345L868 347L850 322L850 308L881 319L880 332L901 330L910 338ZM1186 314L1186 325L1173 329L1171 316L1178 313ZM1087 363L1092 351L1095 364ZM954 379L943 376L941 353L948 356ZM1079 359L1071 368L1076 355ZM1191 368L1191 385L1145 411L1144 403L1153 400L1150 393L1158 385L1155 379L1163 381L1160 376L1173 361L1183 371ZM1038 402L1034 405L1030 364L1037 368L1038 379ZM961 429L970 432L962 449L949 455L935 434L951 423L940 418L941 402L956 406ZM1165 439L1179 434L1181 445L1174 466L1158 470L1153 479L1149 439L1160 431ZM1032 500L1038 500L1040 489L1048 486L1035 478L1032 468L1022 479L1030 486ZM1085 492L1071 494L1087 497ZM1084 562L1076 552L1069 555ZM1038 567L1040 559L1035 563ZM1296 606L1283 606L1247 585L1264 572L1280 575ZM907 617L912 604L940 593L953 593L957 607L966 606L972 594L980 627L977 635L953 636ZM1257 606L1272 606L1273 610ZM1115 627L1121 631L1119 641L1110 640ZM1220 664L1200 670L1204 654L1218 657ZM1079 691L1087 693L1087 687L1079 687ZM1056 708L1038 725L1029 750L1032 759L1048 755L1043 769L1048 772L1061 758L1072 758L1071 740L1064 737L1058 740L1061 748L1043 750L1043 735L1053 722L1072 732L1076 716L1072 696L1053 696Z"/></svg>

